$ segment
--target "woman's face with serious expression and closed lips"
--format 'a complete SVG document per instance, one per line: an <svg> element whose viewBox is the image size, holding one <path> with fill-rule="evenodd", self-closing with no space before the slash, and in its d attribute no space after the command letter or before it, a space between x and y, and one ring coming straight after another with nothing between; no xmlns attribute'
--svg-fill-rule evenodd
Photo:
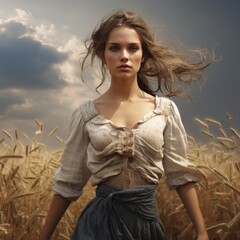
<svg viewBox="0 0 240 240"><path fill-rule="evenodd" d="M114 28L106 42L104 61L112 78L136 78L143 61L138 33L126 26Z"/></svg>

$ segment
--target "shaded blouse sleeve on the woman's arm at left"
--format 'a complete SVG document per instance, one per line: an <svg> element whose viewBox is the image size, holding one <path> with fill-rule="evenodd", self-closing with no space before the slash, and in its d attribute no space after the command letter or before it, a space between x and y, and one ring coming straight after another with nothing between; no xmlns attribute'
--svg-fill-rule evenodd
<svg viewBox="0 0 240 240"><path fill-rule="evenodd" d="M61 157L61 164L54 178L53 191L69 200L76 200L91 173L87 168L89 137L81 108L72 114L68 138Z"/></svg>

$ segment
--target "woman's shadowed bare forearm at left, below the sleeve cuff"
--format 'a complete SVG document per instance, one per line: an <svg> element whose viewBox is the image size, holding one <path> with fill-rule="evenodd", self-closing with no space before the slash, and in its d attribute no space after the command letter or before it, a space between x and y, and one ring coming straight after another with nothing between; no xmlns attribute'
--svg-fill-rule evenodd
<svg viewBox="0 0 240 240"><path fill-rule="evenodd" d="M62 218L63 214L67 210L68 206L70 205L71 201L68 199L60 196L54 195L49 211L48 216L45 221L45 224L40 232L40 240L50 240L51 236Z"/></svg>

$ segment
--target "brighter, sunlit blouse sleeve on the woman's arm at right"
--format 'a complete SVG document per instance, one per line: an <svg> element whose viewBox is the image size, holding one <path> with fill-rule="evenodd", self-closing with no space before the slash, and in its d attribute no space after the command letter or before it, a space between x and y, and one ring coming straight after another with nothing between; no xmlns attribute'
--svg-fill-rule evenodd
<svg viewBox="0 0 240 240"><path fill-rule="evenodd" d="M187 159L187 134L177 106L170 101L164 130L164 172L170 189L188 182L199 182L203 173Z"/></svg>

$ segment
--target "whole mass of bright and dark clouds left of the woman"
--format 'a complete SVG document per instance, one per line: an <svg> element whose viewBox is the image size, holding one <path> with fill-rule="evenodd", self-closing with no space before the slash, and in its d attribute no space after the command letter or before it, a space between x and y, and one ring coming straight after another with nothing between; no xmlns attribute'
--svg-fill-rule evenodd
<svg viewBox="0 0 240 240"><path fill-rule="evenodd" d="M67 131L73 109L93 96L80 80L83 43L76 36L61 42L53 24L32 18L17 9L0 19L1 128L29 133L39 119Z"/></svg>

